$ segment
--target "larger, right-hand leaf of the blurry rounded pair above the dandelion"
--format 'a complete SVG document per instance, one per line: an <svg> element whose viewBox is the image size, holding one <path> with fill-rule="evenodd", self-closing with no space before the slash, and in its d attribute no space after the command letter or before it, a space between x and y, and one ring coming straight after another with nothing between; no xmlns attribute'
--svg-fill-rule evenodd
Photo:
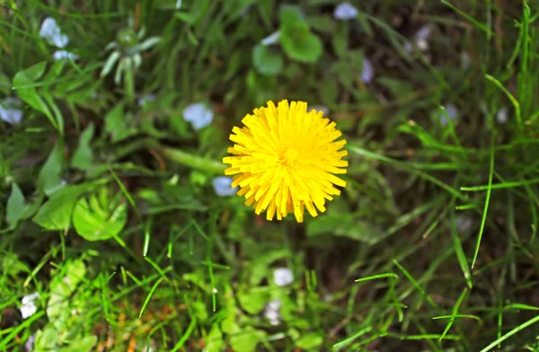
<svg viewBox="0 0 539 352"><path fill-rule="evenodd" d="M304 22L287 24L281 28L280 41L288 57L300 62L314 63L322 55L322 41Z"/></svg>

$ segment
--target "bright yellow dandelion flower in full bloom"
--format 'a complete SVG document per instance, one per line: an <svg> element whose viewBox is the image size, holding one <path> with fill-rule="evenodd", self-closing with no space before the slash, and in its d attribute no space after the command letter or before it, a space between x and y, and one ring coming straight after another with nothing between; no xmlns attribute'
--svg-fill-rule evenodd
<svg viewBox="0 0 539 352"><path fill-rule="evenodd" d="M226 175L234 175L232 187L256 214L266 210L266 218L282 220L294 212L298 223L304 211L317 216L325 211L326 199L340 195L335 186L346 182L334 174L346 173L348 152L340 150L346 140L335 122L323 119L323 112L307 112L304 101L279 101L247 114L243 128L234 127L223 163L230 164Z"/></svg>

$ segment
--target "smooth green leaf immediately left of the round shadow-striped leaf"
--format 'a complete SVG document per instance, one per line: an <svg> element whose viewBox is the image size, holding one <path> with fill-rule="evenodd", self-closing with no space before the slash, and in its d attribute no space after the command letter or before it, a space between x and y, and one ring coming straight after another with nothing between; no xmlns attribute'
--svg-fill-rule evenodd
<svg viewBox="0 0 539 352"><path fill-rule="evenodd" d="M40 207L38 214L33 217L33 222L39 224L45 230L63 230L71 224L71 214L76 204L76 199L86 190L82 186L65 186L57 190L49 200Z"/></svg>

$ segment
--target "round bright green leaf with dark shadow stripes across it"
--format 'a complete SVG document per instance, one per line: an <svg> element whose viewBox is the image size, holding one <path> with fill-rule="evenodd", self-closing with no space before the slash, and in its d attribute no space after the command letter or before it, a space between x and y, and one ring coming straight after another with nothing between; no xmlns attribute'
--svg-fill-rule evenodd
<svg viewBox="0 0 539 352"><path fill-rule="evenodd" d="M103 241L117 236L128 221L126 203L107 204L108 198L93 194L81 198L73 212L75 231L87 241Z"/></svg>

